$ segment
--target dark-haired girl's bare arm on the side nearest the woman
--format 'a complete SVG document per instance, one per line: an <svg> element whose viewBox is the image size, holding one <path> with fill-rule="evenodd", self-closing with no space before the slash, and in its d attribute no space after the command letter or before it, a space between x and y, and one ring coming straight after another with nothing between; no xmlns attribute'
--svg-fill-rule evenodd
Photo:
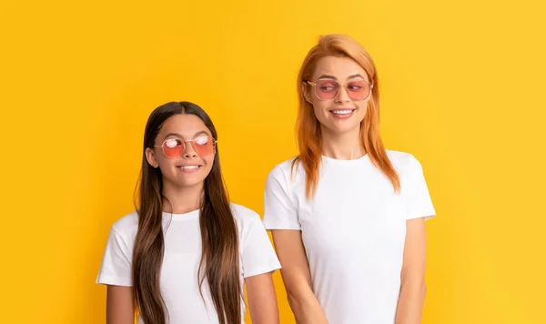
<svg viewBox="0 0 546 324"><path fill-rule="evenodd" d="M278 305L271 273L245 278L248 309L254 324L278 324Z"/></svg>

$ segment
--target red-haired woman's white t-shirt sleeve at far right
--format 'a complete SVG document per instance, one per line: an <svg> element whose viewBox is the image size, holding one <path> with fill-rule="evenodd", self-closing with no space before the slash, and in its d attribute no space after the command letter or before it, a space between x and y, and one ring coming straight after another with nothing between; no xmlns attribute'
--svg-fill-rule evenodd
<svg viewBox="0 0 546 324"><path fill-rule="evenodd" d="M406 219L425 218L429 219L436 215L436 211L430 199L429 188L425 181L423 169L417 158L410 157L408 196Z"/></svg>

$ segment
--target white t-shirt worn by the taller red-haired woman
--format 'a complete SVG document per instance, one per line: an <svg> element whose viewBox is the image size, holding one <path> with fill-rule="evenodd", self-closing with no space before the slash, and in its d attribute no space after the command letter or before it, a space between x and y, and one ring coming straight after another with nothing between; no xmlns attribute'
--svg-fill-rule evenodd
<svg viewBox="0 0 546 324"><path fill-rule="evenodd" d="M368 156L322 157L315 197L305 197L303 167L292 159L268 175L264 224L301 230L312 289L329 324L393 324L406 220L435 215L419 161L387 151L399 194Z"/></svg>

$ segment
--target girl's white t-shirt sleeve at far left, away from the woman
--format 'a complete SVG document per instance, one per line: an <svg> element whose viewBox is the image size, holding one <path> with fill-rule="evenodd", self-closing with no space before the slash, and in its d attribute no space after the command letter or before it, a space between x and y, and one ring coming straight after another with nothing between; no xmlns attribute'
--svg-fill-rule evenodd
<svg viewBox="0 0 546 324"><path fill-rule="evenodd" d="M96 283L131 287L133 285L131 259L132 253L127 247L126 241L116 231L116 228L112 227Z"/></svg>

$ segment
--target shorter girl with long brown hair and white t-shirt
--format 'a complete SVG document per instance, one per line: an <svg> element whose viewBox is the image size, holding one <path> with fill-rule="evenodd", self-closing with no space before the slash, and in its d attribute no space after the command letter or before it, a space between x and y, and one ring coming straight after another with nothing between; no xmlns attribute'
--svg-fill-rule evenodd
<svg viewBox="0 0 546 324"><path fill-rule="evenodd" d="M108 324L133 324L135 310L146 324L243 323L243 284L253 323L278 323L278 258L258 214L229 203L203 109L171 102L149 116L138 190L96 280Z"/></svg>

